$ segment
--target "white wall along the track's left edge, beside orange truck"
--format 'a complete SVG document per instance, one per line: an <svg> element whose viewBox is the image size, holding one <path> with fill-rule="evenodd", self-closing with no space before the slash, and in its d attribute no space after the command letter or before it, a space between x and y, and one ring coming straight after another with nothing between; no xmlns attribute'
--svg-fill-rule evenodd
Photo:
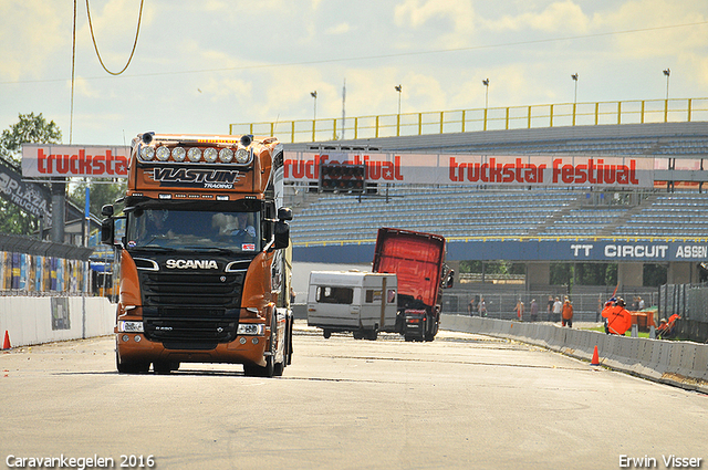
<svg viewBox="0 0 708 470"><path fill-rule="evenodd" d="M105 297L0 296L0 335L12 347L113 333L115 304Z"/></svg>

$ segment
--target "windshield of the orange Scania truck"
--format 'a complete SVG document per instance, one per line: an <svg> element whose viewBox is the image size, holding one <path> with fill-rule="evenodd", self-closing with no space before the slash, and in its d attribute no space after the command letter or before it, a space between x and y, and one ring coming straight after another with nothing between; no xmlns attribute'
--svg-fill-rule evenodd
<svg viewBox="0 0 708 470"><path fill-rule="evenodd" d="M261 250L260 212L138 209L127 217L129 249Z"/></svg>

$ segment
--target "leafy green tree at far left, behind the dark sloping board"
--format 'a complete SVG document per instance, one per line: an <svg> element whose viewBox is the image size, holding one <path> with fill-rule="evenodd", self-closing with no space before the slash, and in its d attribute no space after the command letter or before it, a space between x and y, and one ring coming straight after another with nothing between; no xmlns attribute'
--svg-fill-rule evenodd
<svg viewBox="0 0 708 470"><path fill-rule="evenodd" d="M20 121L2 130L0 157L19 169L22 144L59 144L62 132L52 121L46 122L42 113L20 114ZM39 220L18 206L0 200L0 233L30 236L39 229Z"/></svg>

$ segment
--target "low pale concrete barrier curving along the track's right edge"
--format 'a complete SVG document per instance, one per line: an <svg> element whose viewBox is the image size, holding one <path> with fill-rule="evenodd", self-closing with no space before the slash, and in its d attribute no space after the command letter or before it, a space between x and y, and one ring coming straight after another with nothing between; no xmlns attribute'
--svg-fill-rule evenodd
<svg viewBox="0 0 708 470"><path fill-rule="evenodd" d="M606 335L556 325L442 314L440 327L546 347L638 377L708 393L708 344Z"/></svg>

